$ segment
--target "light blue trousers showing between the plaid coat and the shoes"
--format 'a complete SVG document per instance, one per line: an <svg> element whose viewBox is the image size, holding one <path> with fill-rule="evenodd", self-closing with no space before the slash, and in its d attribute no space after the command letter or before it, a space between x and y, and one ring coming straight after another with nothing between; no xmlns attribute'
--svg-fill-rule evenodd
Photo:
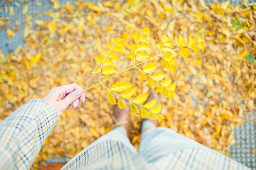
<svg viewBox="0 0 256 170"><path fill-rule="evenodd" d="M143 132L145 129L145 132ZM114 130L103 135L88 148L106 140L121 141L124 145L134 151L135 154L143 156L143 158L150 162L157 161L158 159L165 157L170 154L175 154L177 151L184 150L187 148L207 148L192 139L184 137L176 133L169 128L156 128L155 125L150 121L144 121L142 123L139 150L137 150L130 143L129 138L126 135L126 130L122 127L117 127Z"/></svg>

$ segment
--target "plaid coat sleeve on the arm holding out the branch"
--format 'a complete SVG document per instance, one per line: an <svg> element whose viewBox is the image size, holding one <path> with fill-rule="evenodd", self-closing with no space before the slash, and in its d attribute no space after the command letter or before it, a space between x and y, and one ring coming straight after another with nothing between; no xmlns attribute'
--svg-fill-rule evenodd
<svg viewBox="0 0 256 170"><path fill-rule="evenodd" d="M56 110L32 99L0 122L0 170L28 170L58 121Z"/></svg>

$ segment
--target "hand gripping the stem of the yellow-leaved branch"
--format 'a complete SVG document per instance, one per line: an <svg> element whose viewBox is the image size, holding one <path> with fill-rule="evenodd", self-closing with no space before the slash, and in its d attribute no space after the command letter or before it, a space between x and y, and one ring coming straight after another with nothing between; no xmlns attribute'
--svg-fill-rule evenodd
<svg viewBox="0 0 256 170"><path fill-rule="evenodd" d="M85 102L83 88L76 83L67 84L52 88L43 98L48 104L52 105L59 115L72 105L76 108L79 102Z"/></svg>

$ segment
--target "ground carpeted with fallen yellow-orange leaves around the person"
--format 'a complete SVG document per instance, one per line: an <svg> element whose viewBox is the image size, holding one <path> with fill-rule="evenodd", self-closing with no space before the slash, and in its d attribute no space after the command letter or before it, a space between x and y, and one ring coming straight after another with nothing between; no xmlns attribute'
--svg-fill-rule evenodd
<svg viewBox="0 0 256 170"><path fill-rule="evenodd" d="M149 27L153 55L159 53L156 44L163 34L172 38L181 34L188 40L189 35L204 33L204 53L191 52L186 62L179 57L174 73L168 73L177 82L176 94L171 100L162 97L161 115L166 119L161 126L227 154L235 144L234 128L245 122L246 114L256 111L256 4L232 7L229 2L206 5L202 0L51 3L52 10L45 12L51 20L32 22L37 16L22 9L25 45L8 56L0 51L0 120L29 99L42 98L54 86L96 84L97 75L90 73L97 65L94 58L111 38L130 40L132 33ZM18 30L8 24L1 18L0 28L7 29L8 37L15 36ZM124 52L117 71L130 62ZM140 85L138 94L149 93L151 87L141 85L139 76L130 70L105 85L123 80ZM73 157L110 131L113 108L107 94L96 86L86 91L85 104L61 115L33 169L54 156ZM135 148L139 147L140 122L139 114L130 115L130 140Z"/></svg>

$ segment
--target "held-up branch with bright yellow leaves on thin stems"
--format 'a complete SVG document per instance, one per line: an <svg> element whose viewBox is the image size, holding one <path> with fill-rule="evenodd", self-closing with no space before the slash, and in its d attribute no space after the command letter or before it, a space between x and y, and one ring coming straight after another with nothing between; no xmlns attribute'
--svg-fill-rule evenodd
<svg viewBox="0 0 256 170"><path fill-rule="evenodd" d="M132 34L132 38L134 40L134 44L128 45L128 48L131 49L127 55L130 59L133 60L133 66L130 66L129 68L126 68L123 71L117 72L115 69L116 64L113 62L113 60L116 60L119 62L118 54L121 53L124 55L123 49L126 48L127 42L125 39L121 38L113 38L111 41L112 43L108 44L106 46L105 50L101 52L101 55L96 58L96 61L99 62L100 67L97 67L94 72L99 74L99 82L97 84L94 84L93 86L85 89L84 91L88 91L91 88L94 88L95 86L102 85L104 88L108 89L108 101L110 104L118 104L120 109L127 108L124 104L122 99L126 99L129 102L131 102L131 112L132 113L141 113L141 117L149 117L149 118L157 118L160 122L164 117L159 114L161 110L161 104L158 104L155 106L157 99L153 99L150 102L143 104L148 94L141 94L135 97L134 99L129 99L132 97L137 89L137 86L134 87L129 82L118 82L116 84L113 84L111 88L108 88L103 83L111 79L112 77L115 77L121 73L124 73L125 71L128 71L132 68L136 68L138 71L140 71L140 80L146 81L148 77L148 86L156 86L157 82L157 88L155 90L155 93L163 93L164 96L168 99L171 99L172 95L175 94L175 86L176 82L172 83L172 79L170 77L166 77L166 74L164 71L158 71L154 73L157 70L157 65L153 62L149 62L150 60L153 60L156 57L162 57L161 65L163 68L169 68L170 71L173 73L174 68L178 66L175 64L177 60L176 51L184 57L184 61L186 61L187 57L189 56L189 48L192 49L195 53L195 55L199 51L199 46L202 48L202 52L204 51L204 36L200 36L197 34L198 39L194 39L191 36L189 37L189 43L186 43L186 40L179 35L179 38L175 37L175 42L177 44L176 48L171 43L172 38L168 38L166 35L162 35L162 43L157 44L157 48L160 50L159 55L156 55L154 57L150 57L147 51L150 51L151 47L148 45L149 42L146 38L146 35L149 35L150 29L145 28L140 30L140 33ZM117 54L118 53L118 54ZM136 62L138 62L136 64ZM138 66L141 64L146 63L146 65L143 67L143 69L140 69ZM101 75L112 75L104 80L101 80ZM152 74L152 75L150 75ZM163 80L164 79L164 80ZM84 92L83 91L83 92ZM116 102L116 99L114 95L118 96L118 102ZM120 93L120 94L119 94ZM121 99L122 98L122 99ZM137 108L137 106L141 107L141 111Z"/></svg>

